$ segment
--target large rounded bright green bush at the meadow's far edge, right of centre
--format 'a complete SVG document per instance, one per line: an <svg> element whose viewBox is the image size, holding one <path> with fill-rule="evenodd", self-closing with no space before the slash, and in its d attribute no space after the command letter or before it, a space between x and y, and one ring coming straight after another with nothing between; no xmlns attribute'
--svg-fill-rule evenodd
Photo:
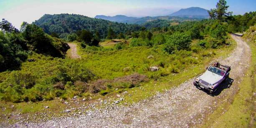
<svg viewBox="0 0 256 128"><path fill-rule="evenodd" d="M175 33L167 39L164 45L164 51L172 54L175 50L186 50L190 45L190 36L184 33Z"/></svg>

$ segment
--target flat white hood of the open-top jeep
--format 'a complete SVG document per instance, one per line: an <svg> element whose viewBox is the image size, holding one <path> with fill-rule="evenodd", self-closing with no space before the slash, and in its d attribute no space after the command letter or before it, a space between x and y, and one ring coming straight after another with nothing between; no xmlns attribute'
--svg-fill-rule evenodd
<svg viewBox="0 0 256 128"><path fill-rule="evenodd" d="M215 74L211 71L206 71L202 76L198 77L199 79L202 79L210 84L215 84L218 81L222 79L223 76L220 76L218 74Z"/></svg>

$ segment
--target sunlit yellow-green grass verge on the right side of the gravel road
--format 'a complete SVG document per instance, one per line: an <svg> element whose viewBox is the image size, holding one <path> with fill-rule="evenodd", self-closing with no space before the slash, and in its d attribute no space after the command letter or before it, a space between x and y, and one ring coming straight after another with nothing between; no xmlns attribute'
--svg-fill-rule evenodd
<svg viewBox="0 0 256 128"><path fill-rule="evenodd" d="M209 116L209 120L206 121L202 127L256 127L256 103L255 96L253 96L253 92L256 91L256 45L254 43L249 43L249 45L252 51L251 65L245 73L246 75L242 83L240 83L240 90L235 95L234 101L231 104L225 102L219 106L217 110L214 111L214 114Z"/></svg>

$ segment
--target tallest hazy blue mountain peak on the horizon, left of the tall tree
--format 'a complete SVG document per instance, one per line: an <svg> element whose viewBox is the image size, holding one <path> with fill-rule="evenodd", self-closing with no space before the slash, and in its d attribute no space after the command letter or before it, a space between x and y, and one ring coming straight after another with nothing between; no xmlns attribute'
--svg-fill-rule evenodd
<svg viewBox="0 0 256 128"><path fill-rule="evenodd" d="M186 9L180 9L177 12L174 12L167 16L179 16L179 17L188 17L188 18L209 18L208 10L199 8L199 7L190 7Z"/></svg>

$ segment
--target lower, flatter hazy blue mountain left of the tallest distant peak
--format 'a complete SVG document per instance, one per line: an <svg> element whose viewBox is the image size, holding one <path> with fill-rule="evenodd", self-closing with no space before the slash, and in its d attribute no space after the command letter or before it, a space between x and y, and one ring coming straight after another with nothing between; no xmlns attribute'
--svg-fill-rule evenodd
<svg viewBox="0 0 256 128"><path fill-rule="evenodd" d="M124 21L127 21L127 20L138 19L137 17L128 17L128 16L125 16L125 15L116 15L116 16L97 15L94 18L109 20L109 21L114 21L114 22L124 22Z"/></svg>

